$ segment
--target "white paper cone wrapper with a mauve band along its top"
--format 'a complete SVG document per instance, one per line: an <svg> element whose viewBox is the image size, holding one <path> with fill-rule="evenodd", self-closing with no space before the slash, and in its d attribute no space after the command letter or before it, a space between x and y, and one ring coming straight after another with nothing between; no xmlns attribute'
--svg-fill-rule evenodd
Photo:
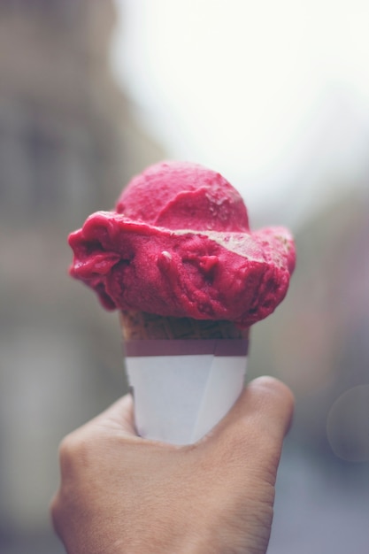
<svg viewBox="0 0 369 554"><path fill-rule="evenodd" d="M127 377L135 397L138 434L173 444L196 442L206 435L242 391L247 343L246 340L126 343ZM139 355L142 349L144 356ZM162 355L163 349L167 355Z"/></svg>

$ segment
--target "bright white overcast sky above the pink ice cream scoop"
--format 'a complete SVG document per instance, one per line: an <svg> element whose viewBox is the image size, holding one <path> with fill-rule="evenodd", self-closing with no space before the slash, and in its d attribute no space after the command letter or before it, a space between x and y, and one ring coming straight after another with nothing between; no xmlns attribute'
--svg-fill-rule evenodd
<svg viewBox="0 0 369 554"><path fill-rule="evenodd" d="M219 170L250 209L266 198L295 215L360 176L368 0L116 3L115 73L168 158Z"/></svg>

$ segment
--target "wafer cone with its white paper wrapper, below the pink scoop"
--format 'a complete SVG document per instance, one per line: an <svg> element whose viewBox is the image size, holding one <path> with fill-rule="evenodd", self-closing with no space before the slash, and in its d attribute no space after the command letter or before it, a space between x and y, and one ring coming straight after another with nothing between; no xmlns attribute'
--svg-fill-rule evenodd
<svg viewBox="0 0 369 554"><path fill-rule="evenodd" d="M196 442L242 391L249 329L128 311L120 323L139 435Z"/></svg>

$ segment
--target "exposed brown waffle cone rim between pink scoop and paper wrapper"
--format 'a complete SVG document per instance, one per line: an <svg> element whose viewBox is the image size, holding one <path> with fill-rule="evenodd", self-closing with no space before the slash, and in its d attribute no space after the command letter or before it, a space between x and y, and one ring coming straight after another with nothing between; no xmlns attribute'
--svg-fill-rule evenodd
<svg viewBox="0 0 369 554"><path fill-rule="evenodd" d="M123 339L247 339L249 328L240 329L232 321L173 318L147 312L119 313Z"/></svg>

